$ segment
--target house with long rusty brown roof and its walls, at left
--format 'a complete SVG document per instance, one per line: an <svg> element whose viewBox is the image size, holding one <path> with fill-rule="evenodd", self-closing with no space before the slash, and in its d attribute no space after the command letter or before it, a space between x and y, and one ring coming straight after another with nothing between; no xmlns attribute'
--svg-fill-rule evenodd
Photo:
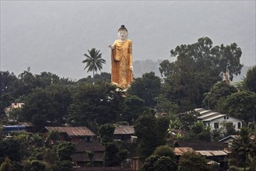
<svg viewBox="0 0 256 171"><path fill-rule="evenodd" d="M90 131L88 127L44 127L41 132L44 134L44 137L47 137L50 131L57 131L60 141L71 141L74 144L81 141L96 141L96 134Z"/></svg>

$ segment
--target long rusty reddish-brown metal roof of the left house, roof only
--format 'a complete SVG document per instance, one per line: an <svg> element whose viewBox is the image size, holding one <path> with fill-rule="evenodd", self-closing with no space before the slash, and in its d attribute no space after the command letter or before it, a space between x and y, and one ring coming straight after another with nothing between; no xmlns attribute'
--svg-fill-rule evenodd
<svg viewBox="0 0 256 171"><path fill-rule="evenodd" d="M66 133L68 136L96 136L88 127L45 127L48 131Z"/></svg>

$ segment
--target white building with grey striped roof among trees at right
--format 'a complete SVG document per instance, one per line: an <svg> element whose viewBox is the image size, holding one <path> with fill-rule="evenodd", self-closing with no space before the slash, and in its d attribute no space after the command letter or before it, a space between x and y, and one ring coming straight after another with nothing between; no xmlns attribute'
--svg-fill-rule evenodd
<svg viewBox="0 0 256 171"><path fill-rule="evenodd" d="M211 127L212 130L224 128L223 124L232 124L236 131L240 131L242 128L242 120L234 117L230 117L226 114L214 112L212 110L205 110L204 108L195 109L200 114L199 120L202 120L205 125Z"/></svg>

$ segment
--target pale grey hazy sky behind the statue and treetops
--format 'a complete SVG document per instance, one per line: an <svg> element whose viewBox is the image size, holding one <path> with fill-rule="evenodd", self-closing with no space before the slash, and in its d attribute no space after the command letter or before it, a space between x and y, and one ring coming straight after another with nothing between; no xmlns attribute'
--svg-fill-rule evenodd
<svg viewBox="0 0 256 171"><path fill-rule="evenodd" d="M213 45L242 49L241 63L255 65L255 1L2 1L1 71L87 76L87 50L100 50L110 72L108 44L124 24L133 59L170 59L170 50L209 37ZM91 74L91 73L89 73Z"/></svg>

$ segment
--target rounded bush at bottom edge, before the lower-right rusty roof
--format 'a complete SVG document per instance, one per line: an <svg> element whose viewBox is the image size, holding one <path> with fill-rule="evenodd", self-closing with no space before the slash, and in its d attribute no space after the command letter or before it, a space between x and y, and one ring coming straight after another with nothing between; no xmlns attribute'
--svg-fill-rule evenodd
<svg viewBox="0 0 256 171"><path fill-rule="evenodd" d="M207 160L195 152L185 152L179 160L178 171L207 171Z"/></svg>

